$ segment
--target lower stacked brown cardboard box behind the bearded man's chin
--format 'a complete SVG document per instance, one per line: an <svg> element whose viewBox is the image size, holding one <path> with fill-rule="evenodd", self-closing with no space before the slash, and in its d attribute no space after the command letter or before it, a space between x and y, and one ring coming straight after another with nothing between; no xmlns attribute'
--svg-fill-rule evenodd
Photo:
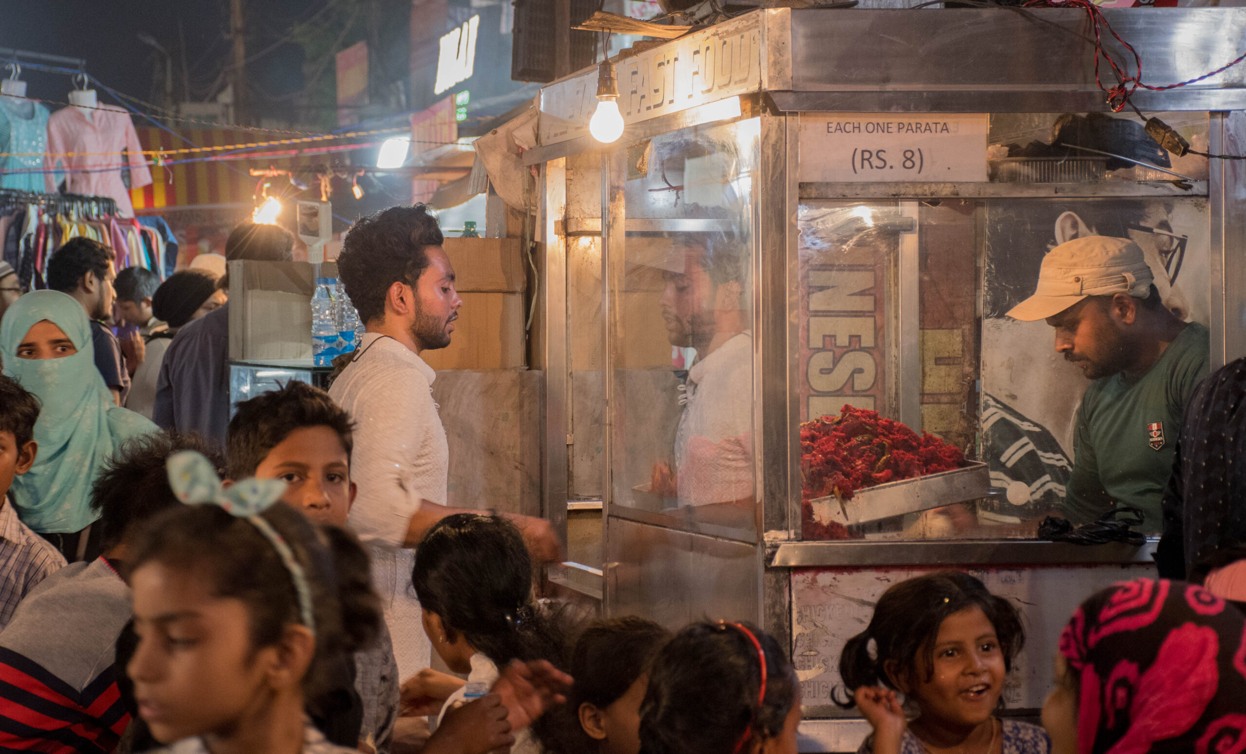
<svg viewBox="0 0 1246 754"><path fill-rule="evenodd" d="M522 368L527 312L522 293L462 293L450 345L420 356L434 369Z"/></svg>

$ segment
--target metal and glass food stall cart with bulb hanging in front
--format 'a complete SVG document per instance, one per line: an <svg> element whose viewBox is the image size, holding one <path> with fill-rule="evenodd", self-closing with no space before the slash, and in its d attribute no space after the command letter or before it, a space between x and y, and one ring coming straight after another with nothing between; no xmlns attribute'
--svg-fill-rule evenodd
<svg viewBox="0 0 1246 754"><path fill-rule="evenodd" d="M1246 30L1246 9L1103 17L1155 85L1234 60ZM1240 155L1242 67L1130 102ZM622 138L588 135L584 70L541 90L520 156L540 168L545 505L564 525L568 503L603 503L604 563L556 580L608 614L764 624L800 674L802 749L846 752L867 725L832 704L844 642L891 583L966 568L1025 617L1004 700L1034 714L1059 627L1154 573L1154 538L1019 533L1063 497L1088 381L1045 323L1004 313L1050 247L1125 237L1210 328L1214 368L1246 354L1242 163L1170 155L1111 112L1075 9L756 10L617 77ZM810 489L801 424L845 404L969 461L851 499Z"/></svg>

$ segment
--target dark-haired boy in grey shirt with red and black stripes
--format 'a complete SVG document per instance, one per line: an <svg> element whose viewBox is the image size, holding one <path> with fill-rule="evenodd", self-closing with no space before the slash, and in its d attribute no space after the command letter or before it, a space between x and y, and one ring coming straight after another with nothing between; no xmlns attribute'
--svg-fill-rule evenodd
<svg viewBox="0 0 1246 754"><path fill-rule="evenodd" d="M122 700L125 672L116 663L117 637L132 614L130 586L121 577L128 536L182 505L164 462L183 450L223 466L221 454L194 435L142 435L122 445L92 486L103 556L44 580L0 633L0 750L116 748L133 714Z"/></svg>

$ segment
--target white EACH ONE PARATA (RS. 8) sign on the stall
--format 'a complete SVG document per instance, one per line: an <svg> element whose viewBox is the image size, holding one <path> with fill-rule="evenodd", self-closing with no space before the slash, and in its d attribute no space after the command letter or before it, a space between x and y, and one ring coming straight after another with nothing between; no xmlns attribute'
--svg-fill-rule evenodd
<svg viewBox="0 0 1246 754"><path fill-rule="evenodd" d="M816 112L800 116L800 179L984 182L987 116Z"/></svg>

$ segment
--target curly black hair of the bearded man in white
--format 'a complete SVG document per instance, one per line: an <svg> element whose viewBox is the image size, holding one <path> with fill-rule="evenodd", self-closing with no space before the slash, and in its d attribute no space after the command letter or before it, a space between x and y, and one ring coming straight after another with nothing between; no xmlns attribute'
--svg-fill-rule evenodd
<svg viewBox="0 0 1246 754"><path fill-rule="evenodd" d="M444 241L437 218L424 204L390 207L350 227L338 255L338 275L369 324L385 315L385 293L394 283L415 285L429 267L429 247Z"/></svg>

